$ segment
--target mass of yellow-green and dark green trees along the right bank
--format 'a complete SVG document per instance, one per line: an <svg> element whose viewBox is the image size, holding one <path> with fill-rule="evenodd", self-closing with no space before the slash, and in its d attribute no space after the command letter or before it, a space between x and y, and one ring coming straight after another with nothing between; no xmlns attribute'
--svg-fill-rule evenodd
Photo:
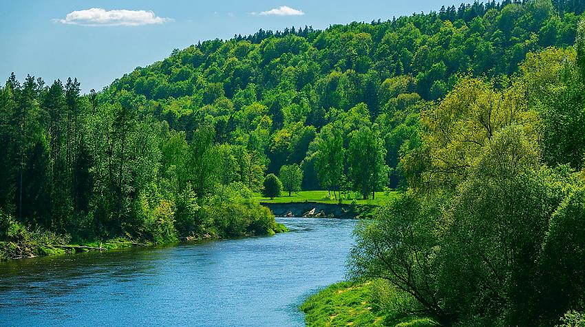
<svg viewBox="0 0 585 327"><path fill-rule="evenodd" d="M421 112L408 191L357 229L354 277L445 326L583 326L583 94L584 22L575 50L529 54L505 87L460 79Z"/></svg>

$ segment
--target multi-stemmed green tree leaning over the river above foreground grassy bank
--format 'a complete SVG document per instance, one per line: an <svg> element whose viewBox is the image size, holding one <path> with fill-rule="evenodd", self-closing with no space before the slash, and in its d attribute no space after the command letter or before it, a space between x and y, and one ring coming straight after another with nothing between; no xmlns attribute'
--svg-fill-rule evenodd
<svg viewBox="0 0 585 327"><path fill-rule="evenodd" d="M433 260L438 245L433 222L438 213L410 193L381 207L374 222L357 225L350 273L356 278L386 279L413 295L424 313L451 324L456 316L443 307L434 278L439 266Z"/></svg>

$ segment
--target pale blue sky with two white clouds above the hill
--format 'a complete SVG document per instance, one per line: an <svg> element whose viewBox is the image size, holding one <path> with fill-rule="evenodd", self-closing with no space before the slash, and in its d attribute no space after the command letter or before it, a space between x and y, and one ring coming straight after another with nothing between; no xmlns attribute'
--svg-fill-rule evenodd
<svg viewBox="0 0 585 327"><path fill-rule="evenodd" d="M466 1L467 2L467 1ZM445 0L0 0L0 81L10 72L47 83L68 76L84 92L206 39L295 25L392 19L438 10ZM89 11L92 8L94 10ZM103 9L103 10L102 10ZM115 10L115 11L111 11ZM125 10L125 11L119 11Z"/></svg>

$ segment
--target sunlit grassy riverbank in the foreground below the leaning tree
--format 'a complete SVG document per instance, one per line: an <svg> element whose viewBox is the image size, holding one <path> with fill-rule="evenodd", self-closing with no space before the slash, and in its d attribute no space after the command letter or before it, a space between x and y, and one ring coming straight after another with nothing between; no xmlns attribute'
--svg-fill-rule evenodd
<svg viewBox="0 0 585 327"><path fill-rule="evenodd" d="M430 327L434 321L409 314L412 297L382 280L341 282L312 295L301 305L306 326Z"/></svg>

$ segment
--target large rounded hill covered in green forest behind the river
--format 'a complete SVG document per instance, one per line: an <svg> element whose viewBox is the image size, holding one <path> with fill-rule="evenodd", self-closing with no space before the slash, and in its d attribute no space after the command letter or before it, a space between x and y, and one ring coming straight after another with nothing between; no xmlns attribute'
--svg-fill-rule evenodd
<svg viewBox="0 0 585 327"><path fill-rule="evenodd" d="M300 164L304 187L312 189L360 183L352 177L350 139L364 126L375 139L363 141L383 147L379 171L390 168L396 187L399 151L416 147L416 116L427 101L443 98L461 75L506 85L527 53L572 46L583 7L582 1L488 1L323 31L259 30L174 50L116 80L100 98L129 99L187 131L187 140L198 126L213 125L216 143L265 155L269 173ZM348 150L345 160L333 160L344 166L334 175L347 181L331 180L330 165L312 156L319 141L333 138L334 125Z"/></svg>

